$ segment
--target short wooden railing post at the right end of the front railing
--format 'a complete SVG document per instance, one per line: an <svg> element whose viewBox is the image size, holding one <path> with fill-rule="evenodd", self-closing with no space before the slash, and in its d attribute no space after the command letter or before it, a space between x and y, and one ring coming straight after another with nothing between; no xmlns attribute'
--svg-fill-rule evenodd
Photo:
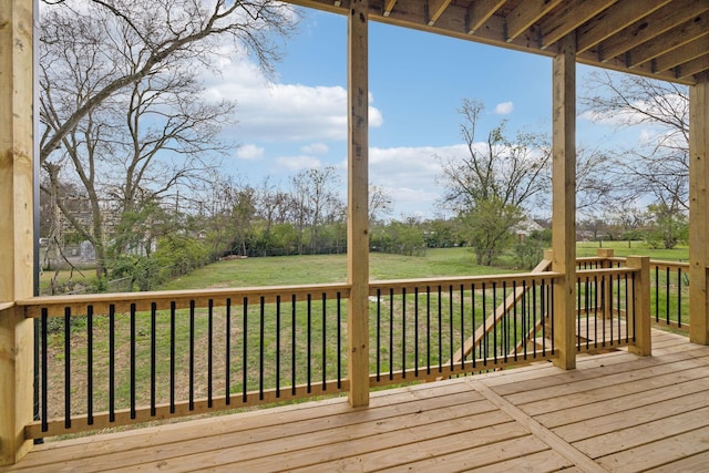
<svg viewBox="0 0 709 473"><path fill-rule="evenodd" d="M635 343L628 347L628 351L649 357L653 354L653 336L650 332L650 257L628 256L626 260L628 268L638 268L640 273L635 275L635 289L626 288L628 291L629 317L635 316L635 321L628 320L628 336L635 337Z"/></svg>

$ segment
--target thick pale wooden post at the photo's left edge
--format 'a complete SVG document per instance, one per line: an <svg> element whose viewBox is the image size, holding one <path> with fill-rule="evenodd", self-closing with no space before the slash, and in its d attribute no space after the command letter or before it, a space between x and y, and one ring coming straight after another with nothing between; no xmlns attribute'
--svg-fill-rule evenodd
<svg viewBox="0 0 709 473"><path fill-rule="evenodd" d="M32 1L0 1L0 465L31 448L33 325Z"/></svg>

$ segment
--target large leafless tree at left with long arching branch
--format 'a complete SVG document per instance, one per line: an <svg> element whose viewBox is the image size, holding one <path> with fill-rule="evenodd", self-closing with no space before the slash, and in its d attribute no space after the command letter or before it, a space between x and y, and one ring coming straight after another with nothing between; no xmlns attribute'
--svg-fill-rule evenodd
<svg viewBox="0 0 709 473"><path fill-rule="evenodd" d="M102 200L131 212L198 178L219 152L233 102L201 99L199 72L232 44L269 69L275 39L294 28L284 3L228 0L45 0L41 18L40 163L72 174L93 222L66 218L96 247L103 275ZM119 172L117 169L121 169ZM43 188L51 193L50 188Z"/></svg>

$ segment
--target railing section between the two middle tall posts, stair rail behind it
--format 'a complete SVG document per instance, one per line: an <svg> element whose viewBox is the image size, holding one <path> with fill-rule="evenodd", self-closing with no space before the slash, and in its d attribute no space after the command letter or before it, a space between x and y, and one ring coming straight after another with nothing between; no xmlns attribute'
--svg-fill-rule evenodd
<svg viewBox="0 0 709 473"><path fill-rule="evenodd" d="M434 380L554 356L553 276L370 285L371 385Z"/></svg>

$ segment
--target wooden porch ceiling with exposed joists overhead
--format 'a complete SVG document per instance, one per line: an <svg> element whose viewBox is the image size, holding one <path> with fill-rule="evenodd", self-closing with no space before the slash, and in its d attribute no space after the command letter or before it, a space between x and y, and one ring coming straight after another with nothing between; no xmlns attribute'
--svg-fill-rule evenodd
<svg viewBox="0 0 709 473"><path fill-rule="evenodd" d="M348 14L350 0L288 0ZM693 84L709 71L709 0L364 0L370 20ZM392 51L392 53L395 53Z"/></svg>

